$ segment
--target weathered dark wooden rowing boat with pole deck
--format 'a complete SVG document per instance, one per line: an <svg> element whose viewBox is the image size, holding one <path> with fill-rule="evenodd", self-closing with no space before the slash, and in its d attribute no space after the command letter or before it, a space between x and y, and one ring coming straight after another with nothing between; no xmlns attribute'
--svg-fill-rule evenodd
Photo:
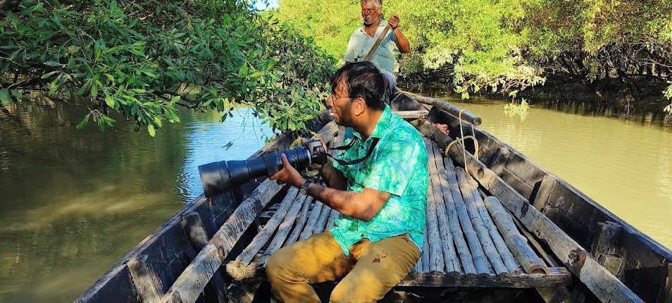
<svg viewBox="0 0 672 303"><path fill-rule="evenodd" d="M670 249L469 122L477 117L405 92L392 107L425 136L431 180L425 253L386 299L672 302ZM342 144L326 113L309 128ZM282 134L251 158L287 149L299 135ZM269 180L201 196L77 302L268 302L268 256L336 216ZM316 287L328 295L330 283Z"/></svg>

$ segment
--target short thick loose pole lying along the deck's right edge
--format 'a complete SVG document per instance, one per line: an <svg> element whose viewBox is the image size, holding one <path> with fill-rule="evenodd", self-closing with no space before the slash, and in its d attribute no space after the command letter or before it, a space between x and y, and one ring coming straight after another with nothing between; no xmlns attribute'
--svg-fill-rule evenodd
<svg viewBox="0 0 672 303"><path fill-rule="evenodd" d="M490 211L492 220L502 233L506 245L511 249L514 256L516 256L518 262L521 263L525 273L548 274L548 267L544 264L544 261L535 254L532 247L528 245L525 237L523 237L521 233L518 233L516 223L514 223L514 220L509 216L509 213L506 212L504 206L499 203L499 200L496 197L487 197L485 198L485 207Z"/></svg>

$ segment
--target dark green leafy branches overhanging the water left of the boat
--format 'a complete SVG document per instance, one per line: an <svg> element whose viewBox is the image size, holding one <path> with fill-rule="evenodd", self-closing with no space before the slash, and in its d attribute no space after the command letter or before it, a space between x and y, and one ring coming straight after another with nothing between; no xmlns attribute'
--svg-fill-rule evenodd
<svg viewBox="0 0 672 303"><path fill-rule="evenodd" d="M112 111L154 136L178 104L222 120L251 106L296 130L322 108L335 59L246 4L221 1L20 1L0 13L0 101L42 89L87 104L99 128Z"/></svg>

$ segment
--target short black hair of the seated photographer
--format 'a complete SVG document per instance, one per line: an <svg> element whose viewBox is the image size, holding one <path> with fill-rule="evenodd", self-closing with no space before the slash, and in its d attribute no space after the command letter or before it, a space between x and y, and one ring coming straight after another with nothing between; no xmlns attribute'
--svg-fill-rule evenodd
<svg viewBox="0 0 672 303"><path fill-rule="evenodd" d="M385 80L373 63L368 61L346 63L336 70L331 78L332 94L335 94L336 86L341 79L345 80L345 89L351 99L361 97L369 108L380 111L385 109Z"/></svg>

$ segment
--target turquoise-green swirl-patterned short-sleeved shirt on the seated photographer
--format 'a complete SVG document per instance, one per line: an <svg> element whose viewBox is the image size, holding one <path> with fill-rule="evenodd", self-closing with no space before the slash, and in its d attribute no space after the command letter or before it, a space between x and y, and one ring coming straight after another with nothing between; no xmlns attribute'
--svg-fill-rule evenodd
<svg viewBox="0 0 672 303"><path fill-rule="evenodd" d="M330 230L343 253L348 256L349 248L363 238L371 242L385 237L408 233L413 243L422 252L425 230L425 207L429 184L427 151L420 133L385 106L373 134L366 141L359 132L347 128L344 143L357 137L354 145L337 156L351 161L366 156L373 137L378 137L378 145L373 154L358 164L333 166L345 175L348 190L361 192L364 187L389 192L385 202L371 221L365 222L343 214Z"/></svg>

